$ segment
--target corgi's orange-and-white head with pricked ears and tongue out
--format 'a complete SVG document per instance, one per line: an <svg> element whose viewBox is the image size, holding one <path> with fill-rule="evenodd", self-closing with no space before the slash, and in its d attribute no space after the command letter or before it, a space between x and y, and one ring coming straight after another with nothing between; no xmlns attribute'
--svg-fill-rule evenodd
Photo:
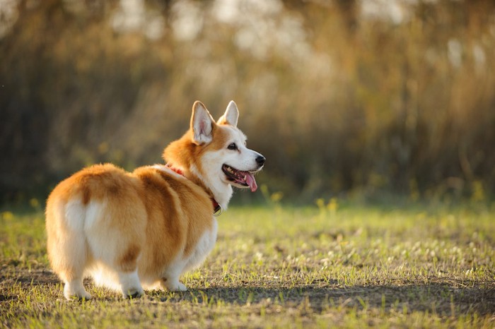
<svg viewBox="0 0 495 329"><path fill-rule="evenodd" d="M194 102L190 130L165 148L165 160L198 177L214 193L222 185L256 191L254 174L262 169L265 158L246 147L238 118L233 101L218 121L202 102Z"/></svg>

